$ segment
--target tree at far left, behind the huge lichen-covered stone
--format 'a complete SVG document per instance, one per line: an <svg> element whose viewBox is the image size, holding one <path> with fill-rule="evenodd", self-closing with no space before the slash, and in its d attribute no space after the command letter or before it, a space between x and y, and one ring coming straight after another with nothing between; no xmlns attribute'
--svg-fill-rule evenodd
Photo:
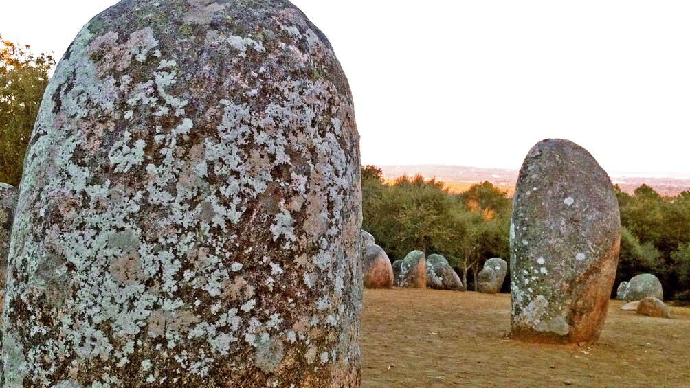
<svg viewBox="0 0 690 388"><path fill-rule="evenodd" d="M0 182L17 186L55 60L0 36Z"/></svg>

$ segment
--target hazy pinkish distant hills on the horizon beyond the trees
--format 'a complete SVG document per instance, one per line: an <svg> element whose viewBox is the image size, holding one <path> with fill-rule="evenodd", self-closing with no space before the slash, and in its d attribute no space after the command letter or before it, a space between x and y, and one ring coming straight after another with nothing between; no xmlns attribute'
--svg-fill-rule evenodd
<svg viewBox="0 0 690 388"><path fill-rule="evenodd" d="M519 170L500 168L467 167L460 165L377 165L386 181L407 174L421 174L424 178L436 178L444 181L451 192L464 192L475 183L489 181L513 196ZM639 174L610 174L611 181L620 186L624 192L632 194L643 183L653 187L662 196L677 196L680 192L690 190L690 178L660 178L638 176Z"/></svg>

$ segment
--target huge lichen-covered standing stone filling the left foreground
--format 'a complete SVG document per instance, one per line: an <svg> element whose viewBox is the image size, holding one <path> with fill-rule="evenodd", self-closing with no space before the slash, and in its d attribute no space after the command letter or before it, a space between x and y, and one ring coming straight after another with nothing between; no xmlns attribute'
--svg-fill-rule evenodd
<svg viewBox="0 0 690 388"><path fill-rule="evenodd" d="M289 1L108 8L25 166L4 386L359 383L353 100Z"/></svg>

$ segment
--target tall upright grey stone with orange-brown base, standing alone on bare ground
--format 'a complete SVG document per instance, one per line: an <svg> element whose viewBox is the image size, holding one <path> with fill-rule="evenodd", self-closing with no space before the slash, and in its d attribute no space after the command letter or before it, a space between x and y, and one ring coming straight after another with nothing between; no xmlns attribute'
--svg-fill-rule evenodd
<svg viewBox="0 0 690 388"><path fill-rule="evenodd" d="M604 320L620 246L609 176L579 145L537 143L513 197L511 332L544 343L593 343Z"/></svg>

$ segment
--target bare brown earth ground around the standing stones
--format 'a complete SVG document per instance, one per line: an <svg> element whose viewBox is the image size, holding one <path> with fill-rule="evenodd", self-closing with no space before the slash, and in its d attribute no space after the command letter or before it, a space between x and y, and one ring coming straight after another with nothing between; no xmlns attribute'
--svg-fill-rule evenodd
<svg viewBox="0 0 690 388"><path fill-rule="evenodd" d="M593 347L508 338L510 296L364 290L364 387L690 387L690 309L638 316L612 300Z"/></svg>

